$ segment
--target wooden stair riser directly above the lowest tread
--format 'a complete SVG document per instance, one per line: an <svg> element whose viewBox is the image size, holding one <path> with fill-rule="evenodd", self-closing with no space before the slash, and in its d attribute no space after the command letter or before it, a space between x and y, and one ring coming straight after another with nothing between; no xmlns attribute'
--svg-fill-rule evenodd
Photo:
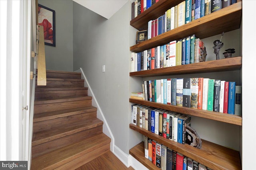
<svg viewBox="0 0 256 170"><path fill-rule="evenodd" d="M34 158L36 156L48 153L51 150L55 150L66 145L70 145L72 143L76 143L84 139L88 139L90 137L99 135L100 133L102 133L102 125L88 129L86 131L81 131L66 137L62 137L60 139L55 139L47 143L42 143L40 145L33 146L32 157Z"/></svg>

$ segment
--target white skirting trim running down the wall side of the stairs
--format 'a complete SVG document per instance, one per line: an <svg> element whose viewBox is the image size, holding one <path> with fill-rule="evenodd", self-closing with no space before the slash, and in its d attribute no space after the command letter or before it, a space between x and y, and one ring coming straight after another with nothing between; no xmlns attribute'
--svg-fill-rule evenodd
<svg viewBox="0 0 256 170"><path fill-rule="evenodd" d="M88 83L88 80L86 79L86 76L84 74L84 71L82 68L80 68L80 70L76 70L75 72L81 72L82 73L82 79L84 79L84 85L88 87L88 95L92 96L92 106L97 107L97 118L100 119L101 121L103 121L103 133L105 135L107 135L108 137L110 137L111 142L110 142L110 150L113 152L114 150L114 143L115 143L115 139L114 136L110 130L110 127L108 126L108 123L102 113L102 110L100 109L100 105L98 104L94 93L92 92L92 88L90 87L90 84Z"/></svg>

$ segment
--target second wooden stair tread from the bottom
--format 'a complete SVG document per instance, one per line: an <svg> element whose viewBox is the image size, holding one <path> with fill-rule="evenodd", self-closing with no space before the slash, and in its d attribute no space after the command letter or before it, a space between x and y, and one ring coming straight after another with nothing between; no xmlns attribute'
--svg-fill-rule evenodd
<svg viewBox="0 0 256 170"><path fill-rule="evenodd" d="M64 126L56 127L46 131L36 132L33 134L32 146L39 145L41 143L45 143L48 141L52 141L54 139L58 139L60 137L64 137L67 135L71 135L73 133L91 129L99 125L103 125L103 121L101 121L98 118L94 118L94 119L88 119L85 121L72 123L68 126L64 125Z"/></svg>

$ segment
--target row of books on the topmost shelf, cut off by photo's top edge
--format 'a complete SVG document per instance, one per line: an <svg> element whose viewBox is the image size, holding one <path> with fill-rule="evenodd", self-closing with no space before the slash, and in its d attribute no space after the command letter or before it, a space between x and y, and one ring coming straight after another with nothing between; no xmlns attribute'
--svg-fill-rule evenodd
<svg viewBox="0 0 256 170"><path fill-rule="evenodd" d="M146 11L158 1L159 0L135 0L132 2L132 19L142 14L142 12Z"/></svg>

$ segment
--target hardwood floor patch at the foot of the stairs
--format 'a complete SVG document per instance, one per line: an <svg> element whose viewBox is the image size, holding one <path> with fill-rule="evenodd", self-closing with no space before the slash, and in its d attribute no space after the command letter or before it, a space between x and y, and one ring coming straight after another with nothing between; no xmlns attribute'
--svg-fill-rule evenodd
<svg viewBox="0 0 256 170"><path fill-rule="evenodd" d="M131 166L127 168L111 151L80 166L76 170L134 170Z"/></svg>

